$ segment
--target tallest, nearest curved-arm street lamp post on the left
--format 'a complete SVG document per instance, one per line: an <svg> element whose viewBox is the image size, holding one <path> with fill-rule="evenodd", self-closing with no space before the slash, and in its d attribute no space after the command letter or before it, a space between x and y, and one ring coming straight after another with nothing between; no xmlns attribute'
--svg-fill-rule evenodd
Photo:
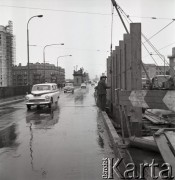
<svg viewBox="0 0 175 180"><path fill-rule="evenodd" d="M41 17L43 17L43 15L32 16L27 22L27 85L30 85L29 22L30 22L31 19L33 19L35 17L41 18Z"/></svg>

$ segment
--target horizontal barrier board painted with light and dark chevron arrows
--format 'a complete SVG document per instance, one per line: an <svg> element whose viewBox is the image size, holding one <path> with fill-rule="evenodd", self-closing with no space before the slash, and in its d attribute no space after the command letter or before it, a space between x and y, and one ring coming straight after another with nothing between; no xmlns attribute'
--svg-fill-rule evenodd
<svg viewBox="0 0 175 180"><path fill-rule="evenodd" d="M150 109L165 109L175 112L175 91L134 90L120 91L120 104Z"/></svg>

